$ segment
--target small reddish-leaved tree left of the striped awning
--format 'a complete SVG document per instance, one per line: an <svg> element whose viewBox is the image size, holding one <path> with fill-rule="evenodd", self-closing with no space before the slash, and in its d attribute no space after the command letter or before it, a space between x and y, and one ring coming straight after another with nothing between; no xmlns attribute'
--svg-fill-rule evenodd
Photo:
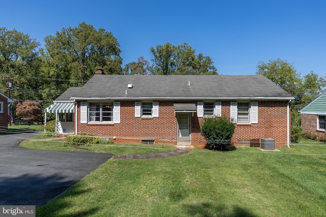
<svg viewBox="0 0 326 217"><path fill-rule="evenodd" d="M22 120L33 120L42 117L40 102L26 100L22 104L18 104L16 108L16 116Z"/></svg>

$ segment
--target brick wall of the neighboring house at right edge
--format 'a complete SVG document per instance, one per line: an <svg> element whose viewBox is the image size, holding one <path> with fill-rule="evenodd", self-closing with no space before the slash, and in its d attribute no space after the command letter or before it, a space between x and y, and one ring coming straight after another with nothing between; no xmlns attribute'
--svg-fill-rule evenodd
<svg viewBox="0 0 326 217"><path fill-rule="evenodd" d="M317 115L315 114L301 114L301 127L304 133L316 135L318 137L325 136L325 131L317 130Z"/></svg>

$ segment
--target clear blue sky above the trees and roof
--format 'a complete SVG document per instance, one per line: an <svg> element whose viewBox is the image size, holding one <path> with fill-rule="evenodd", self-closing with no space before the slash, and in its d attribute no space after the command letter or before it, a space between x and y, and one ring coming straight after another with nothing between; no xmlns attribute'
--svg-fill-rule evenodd
<svg viewBox="0 0 326 217"><path fill-rule="evenodd" d="M0 26L44 44L81 22L117 38L123 65L151 47L187 43L219 74L252 75L281 58L302 76L326 76L326 1L2 1Z"/></svg>

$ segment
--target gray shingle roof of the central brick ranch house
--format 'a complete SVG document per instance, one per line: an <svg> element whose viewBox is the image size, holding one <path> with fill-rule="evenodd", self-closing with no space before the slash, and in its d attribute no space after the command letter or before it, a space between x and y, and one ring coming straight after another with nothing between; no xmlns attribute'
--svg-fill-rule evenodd
<svg viewBox="0 0 326 217"><path fill-rule="evenodd" d="M68 96L79 100L293 99L262 75L94 75L83 87L69 88L58 99Z"/></svg>

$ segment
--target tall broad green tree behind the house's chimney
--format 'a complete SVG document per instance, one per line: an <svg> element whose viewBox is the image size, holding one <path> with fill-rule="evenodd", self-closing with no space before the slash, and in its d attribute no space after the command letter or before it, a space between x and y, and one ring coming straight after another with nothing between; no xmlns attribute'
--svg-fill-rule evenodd
<svg viewBox="0 0 326 217"><path fill-rule="evenodd" d="M77 27L62 28L56 36L45 38L47 61L52 76L87 81L96 69L106 74L122 74L120 45L111 32L85 22ZM73 82L73 85L80 85Z"/></svg>

